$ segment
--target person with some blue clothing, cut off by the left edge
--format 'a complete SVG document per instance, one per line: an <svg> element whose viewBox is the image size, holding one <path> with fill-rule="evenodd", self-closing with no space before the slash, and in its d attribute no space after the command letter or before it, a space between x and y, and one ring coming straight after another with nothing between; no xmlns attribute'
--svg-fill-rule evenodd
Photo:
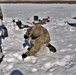
<svg viewBox="0 0 76 75"><path fill-rule="evenodd" d="M2 16L0 16L0 62L3 60L3 51L2 51L2 39L5 39L8 37L8 31L7 28L3 25L3 19Z"/></svg>

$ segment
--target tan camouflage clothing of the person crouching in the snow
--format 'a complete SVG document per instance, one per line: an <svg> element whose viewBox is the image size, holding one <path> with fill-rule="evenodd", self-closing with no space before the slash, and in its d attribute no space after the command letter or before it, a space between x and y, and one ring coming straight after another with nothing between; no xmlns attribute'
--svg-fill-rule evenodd
<svg viewBox="0 0 76 75"><path fill-rule="evenodd" d="M37 37L36 39L32 39L31 37L30 43L33 44L33 47L25 53L27 56L35 56L44 44L47 46L50 42L50 35L47 29L41 25L35 25L28 28L25 35Z"/></svg>

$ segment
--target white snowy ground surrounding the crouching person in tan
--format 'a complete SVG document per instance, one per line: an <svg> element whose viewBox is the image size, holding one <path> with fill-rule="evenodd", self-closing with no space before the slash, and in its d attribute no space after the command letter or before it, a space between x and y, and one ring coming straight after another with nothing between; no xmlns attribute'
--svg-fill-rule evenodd
<svg viewBox="0 0 76 75"><path fill-rule="evenodd" d="M3 42L5 55L0 64L0 75L10 75L19 70L23 75L76 75L76 28L65 22L76 16L73 4L1 4L4 24L9 37ZM40 19L50 16L51 22L44 25L50 33L50 43L57 49L41 57L27 57L24 61L22 44L26 29L14 29L12 19L20 19L24 24L32 22L33 16Z"/></svg>

